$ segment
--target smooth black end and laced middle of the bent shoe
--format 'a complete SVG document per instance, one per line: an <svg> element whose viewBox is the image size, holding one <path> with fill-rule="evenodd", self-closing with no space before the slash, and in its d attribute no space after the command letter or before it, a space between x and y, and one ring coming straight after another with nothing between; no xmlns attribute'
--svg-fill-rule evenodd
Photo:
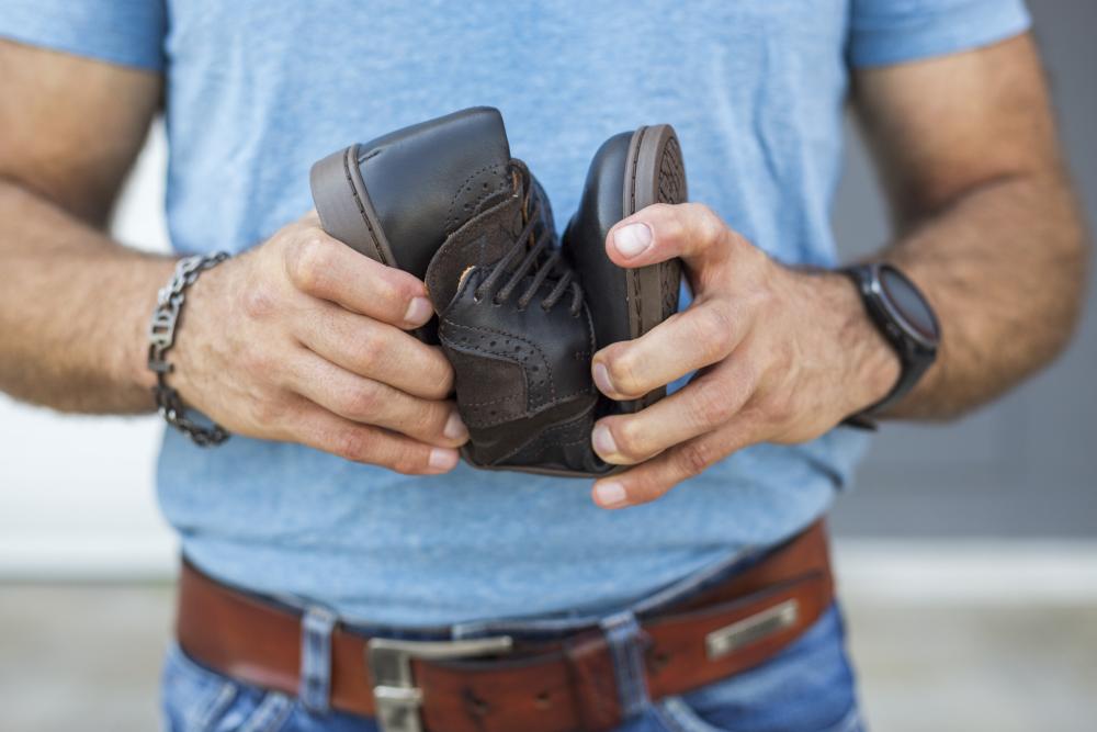
<svg viewBox="0 0 1097 732"><path fill-rule="evenodd" d="M480 468L584 475L598 402L593 329L544 191L510 158L499 112L478 108L320 160L326 232L427 283Z"/></svg>

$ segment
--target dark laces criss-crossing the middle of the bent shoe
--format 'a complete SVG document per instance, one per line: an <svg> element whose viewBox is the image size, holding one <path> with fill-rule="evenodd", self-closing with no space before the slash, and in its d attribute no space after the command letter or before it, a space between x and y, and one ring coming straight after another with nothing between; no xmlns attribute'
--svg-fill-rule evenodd
<svg viewBox="0 0 1097 732"><path fill-rule="evenodd" d="M546 312L552 309L564 294L570 291L572 306L568 312L573 317L578 317L579 313L583 312L583 286L564 261L559 247L553 246L555 233L548 230L548 227L541 222L541 206L543 204L540 199L533 196L533 181L529 168L520 160L512 160L511 171L518 177L523 191L522 223L524 226L514 239L513 246L499 259L495 269L479 283L473 295L476 300L484 299L487 293L495 290L504 275L509 273L510 277L491 297L493 303L501 305L532 272L532 279L529 280L522 294L518 297L519 309L525 309L536 296L541 285L553 278L555 284L548 294L541 300L541 307ZM521 261L511 269L511 263L519 257L521 257Z"/></svg>

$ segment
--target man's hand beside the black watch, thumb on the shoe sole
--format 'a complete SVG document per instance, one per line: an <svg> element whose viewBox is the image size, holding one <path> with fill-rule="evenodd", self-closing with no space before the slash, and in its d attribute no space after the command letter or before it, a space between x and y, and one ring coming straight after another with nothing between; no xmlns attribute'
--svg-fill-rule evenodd
<svg viewBox="0 0 1097 732"><path fill-rule="evenodd" d="M602 459L643 463L596 483L606 508L657 498L749 444L818 437L898 378L850 280L777 263L703 205L649 206L614 226L606 248L621 267L681 257L694 300L596 353L598 388L634 399L699 371L651 407L596 425Z"/></svg>

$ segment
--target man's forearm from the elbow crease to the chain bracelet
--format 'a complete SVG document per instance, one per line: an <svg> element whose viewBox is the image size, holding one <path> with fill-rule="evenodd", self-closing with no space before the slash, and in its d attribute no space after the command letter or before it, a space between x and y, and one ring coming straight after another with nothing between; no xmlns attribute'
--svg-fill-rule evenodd
<svg viewBox="0 0 1097 732"><path fill-rule="evenodd" d="M152 409L145 334L171 270L0 181L0 391L65 412Z"/></svg>

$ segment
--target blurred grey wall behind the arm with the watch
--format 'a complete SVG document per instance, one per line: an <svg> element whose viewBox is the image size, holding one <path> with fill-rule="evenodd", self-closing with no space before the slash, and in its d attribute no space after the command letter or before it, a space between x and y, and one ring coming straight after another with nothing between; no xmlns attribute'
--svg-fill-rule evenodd
<svg viewBox="0 0 1097 732"><path fill-rule="evenodd" d="M1037 0L1029 7L1092 222L1097 2ZM835 212L845 257L887 238L870 164L852 132L850 140ZM1097 299L1090 297L1071 349L1006 398L949 426L885 426L857 488L839 502L835 528L847 536L1097 536L1095 365Z"/></svg>

